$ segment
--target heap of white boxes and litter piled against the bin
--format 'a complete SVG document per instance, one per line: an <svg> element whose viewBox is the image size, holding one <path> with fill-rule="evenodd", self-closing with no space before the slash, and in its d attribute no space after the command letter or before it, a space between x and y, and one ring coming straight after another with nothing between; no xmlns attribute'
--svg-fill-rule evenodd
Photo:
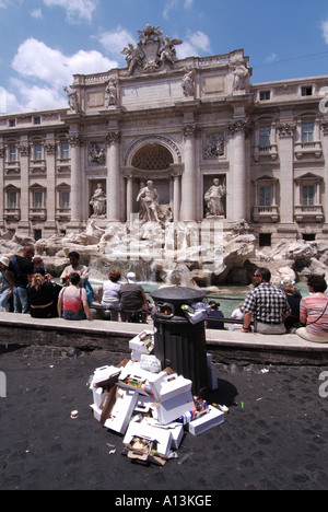
<svg viewBox="0 0 328 512"><path fill-rule="evenodd" d="M144 330L129 342L131 359L103 366L89 379L94 418L124 435L129 458L164 465L178 457L175 450L185 431L198 435L224 422L227 409L192 396L192 382L172 369L161 370L152 354L154 333ZM216 382L208 354L209 382ZM213 386L214 388L214 386Z"/></svg>

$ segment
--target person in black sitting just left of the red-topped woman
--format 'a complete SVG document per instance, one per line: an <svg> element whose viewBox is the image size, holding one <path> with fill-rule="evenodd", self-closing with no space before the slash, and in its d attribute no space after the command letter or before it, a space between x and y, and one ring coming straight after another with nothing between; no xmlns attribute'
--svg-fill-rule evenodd
<svg viewBox="0 0 328 512"><path fill-rule="evenodd" d="M48 280L43 267L36 267L32 282L27 287L30 314L32 318L56 318L58 291L57 284Z"/></svg>

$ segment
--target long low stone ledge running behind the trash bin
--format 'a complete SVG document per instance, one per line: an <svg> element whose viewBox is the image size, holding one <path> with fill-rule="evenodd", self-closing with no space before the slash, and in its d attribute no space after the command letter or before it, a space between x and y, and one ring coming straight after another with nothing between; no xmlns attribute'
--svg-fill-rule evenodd
<svg viewBox="0 0 328 512"><path fill-rule="evenodd" d="M127 352L128 342L152 324L108 321L35 319L30 315L0 314L0 342L105 349ZM238 330L207 330L208 351L214 362L260 364L328 364L328 344L312 344L296 335L265 336Z"/></svg>

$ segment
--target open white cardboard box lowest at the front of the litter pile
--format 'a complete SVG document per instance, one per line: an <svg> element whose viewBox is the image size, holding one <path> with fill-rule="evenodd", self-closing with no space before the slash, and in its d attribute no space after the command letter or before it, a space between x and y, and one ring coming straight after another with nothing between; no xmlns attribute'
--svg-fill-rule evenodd
<svg viewBox="0 0 328 512"><path fill-rule="evenodd" d="M172 447L172 433L168 429L157 429L149 423L141 421L141 423L130 423L124 439L124 445L132 450L131 442L133 438L141 438L147 441L157 442L157 452L164 458L168 458Z"/></svg>

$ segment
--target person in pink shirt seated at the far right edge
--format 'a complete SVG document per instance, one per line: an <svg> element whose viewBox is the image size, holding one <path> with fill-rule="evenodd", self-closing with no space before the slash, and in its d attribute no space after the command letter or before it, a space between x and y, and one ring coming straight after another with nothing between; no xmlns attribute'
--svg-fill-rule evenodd
<svg viewBox="0 0 328 512"><path fill-rule="evenodd" d="M324 276L311 275L307 278L309 296L301 301L300 319L305 327L296 334L307 341L328 344L328 296L325 294L327 282Z"/></svg>

